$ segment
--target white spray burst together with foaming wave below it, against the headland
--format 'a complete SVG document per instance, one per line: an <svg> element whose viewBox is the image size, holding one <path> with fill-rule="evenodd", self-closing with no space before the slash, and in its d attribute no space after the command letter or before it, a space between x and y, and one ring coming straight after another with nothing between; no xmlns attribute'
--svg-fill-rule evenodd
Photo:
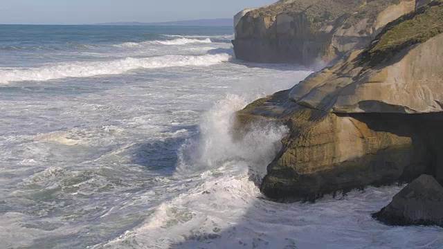
<svg viewBox="0 0 443 249"><path fill-rule="evenodd" d="M266 165L287 134L286 127L269 124L255 127L242 140L233 140L230 130L235 111L247 102L238 95L217 102L201 120L201 136L188 140L179 151L176 177L197 172L192 178L194 187L181 185L179 190L186 192L161 204L147 223L97 247L170 248L188 239L208 241L219 238L221 230L241 220L261 196L251 176L264 176ZM172 188L177 191L176 185ZM163 191L172 190L165 187Z"/></svg>

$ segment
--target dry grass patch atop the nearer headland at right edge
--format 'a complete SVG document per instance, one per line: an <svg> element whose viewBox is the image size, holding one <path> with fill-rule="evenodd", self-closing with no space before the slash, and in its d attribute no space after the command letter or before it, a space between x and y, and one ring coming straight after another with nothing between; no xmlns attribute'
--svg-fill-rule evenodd
<svg viewBox="0 0 443 249"><path fill-rule="evenodd" d="M362 64L376 66L399 51L443 33L443 1L435 0L388 24L363 53Z"/></svg>

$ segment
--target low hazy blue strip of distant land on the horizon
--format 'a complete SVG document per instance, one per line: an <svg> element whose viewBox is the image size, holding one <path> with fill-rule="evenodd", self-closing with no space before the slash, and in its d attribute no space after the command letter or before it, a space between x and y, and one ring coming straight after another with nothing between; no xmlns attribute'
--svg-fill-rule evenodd
<svg viewBox="0 0 443 249"><path fill-rule="evenodd" d="M210 27L226 27L233 26L234 20L232 18L221 18L221 19L198 19L198 20L188 20L188 21L163 21L163 22L152 22L152 23L142 23L137 21L129 22L112 22L104 24L93 24L101 26L210 26Z"/></svg>

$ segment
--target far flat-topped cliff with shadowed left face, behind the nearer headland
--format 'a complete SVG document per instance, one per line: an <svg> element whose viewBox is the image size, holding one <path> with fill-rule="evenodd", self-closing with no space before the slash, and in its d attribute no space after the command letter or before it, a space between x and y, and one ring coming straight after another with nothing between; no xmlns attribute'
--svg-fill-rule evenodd
<svg viewBox="0 0 443 249"><path fill-rule="evenodd" d="M235 55L252 62L330 62L367 45L415 5L415 0L278 1L239 13Z"/></svg>

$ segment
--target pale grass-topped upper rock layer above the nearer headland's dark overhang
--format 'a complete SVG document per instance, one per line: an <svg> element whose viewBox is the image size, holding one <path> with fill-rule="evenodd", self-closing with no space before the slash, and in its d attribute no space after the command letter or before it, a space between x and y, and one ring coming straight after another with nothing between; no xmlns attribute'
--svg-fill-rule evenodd
<svg viewBox="0 0 443 249"><path fill-rule="evenodd" d="M442 17L440 5L401 17L364 53L295 86L289 98L334 113L443 111Z"/></svg>

